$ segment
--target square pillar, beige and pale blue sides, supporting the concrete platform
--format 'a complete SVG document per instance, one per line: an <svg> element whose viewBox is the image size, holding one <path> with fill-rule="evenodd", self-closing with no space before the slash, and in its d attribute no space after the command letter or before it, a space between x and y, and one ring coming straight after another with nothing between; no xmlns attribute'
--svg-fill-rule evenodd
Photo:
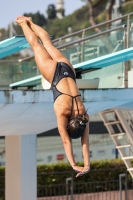
<svg viewBox="0 0 133 200"><path fill-rule="evenodd" d="M36 135L6 136L6 200L36 200Z"/></svg>

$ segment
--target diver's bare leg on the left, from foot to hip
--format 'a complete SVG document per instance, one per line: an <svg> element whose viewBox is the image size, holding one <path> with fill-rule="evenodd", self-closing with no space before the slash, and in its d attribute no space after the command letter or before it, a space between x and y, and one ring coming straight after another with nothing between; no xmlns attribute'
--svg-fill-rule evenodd
<svg viewBox="0 0 133 200"><path fill-rule="evenodd" d="M15 21L21 26L28 43L34 51L35 61L41 74L51 83L57 62L51 58L43 45L40 44L36 34L27 25L27 20L22 17L18 17Z"/></svg>

